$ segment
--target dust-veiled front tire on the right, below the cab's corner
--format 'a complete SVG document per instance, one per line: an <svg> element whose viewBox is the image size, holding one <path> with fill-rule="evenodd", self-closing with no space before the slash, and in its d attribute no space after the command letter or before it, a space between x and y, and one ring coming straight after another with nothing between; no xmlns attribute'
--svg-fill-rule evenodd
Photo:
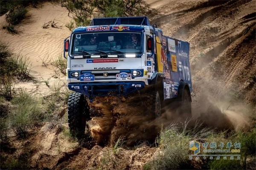
<svg viewBox="0 0 256 170"><path fill-rule="evenodd" d="M158 91L150 91L148 92L148 96L150 96L151 114L154 115L154 118L160 117L161 102L160 102L160 96Z"/></svg>

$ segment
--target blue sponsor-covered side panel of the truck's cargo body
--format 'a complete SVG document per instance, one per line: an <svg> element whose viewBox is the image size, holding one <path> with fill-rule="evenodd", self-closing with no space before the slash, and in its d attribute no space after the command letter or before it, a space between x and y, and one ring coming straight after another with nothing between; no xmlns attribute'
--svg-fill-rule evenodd
<svg viewBox="0 0 256 170"><path fill-rule="evenodd" d="M191 93L192 82L189 64L189 43L163 35L161 49L157 50L160 51L158 68L161 68L162 65L163 73L166 77L163 82L164 99L177 97L180 81L189 84Z"/></svg>

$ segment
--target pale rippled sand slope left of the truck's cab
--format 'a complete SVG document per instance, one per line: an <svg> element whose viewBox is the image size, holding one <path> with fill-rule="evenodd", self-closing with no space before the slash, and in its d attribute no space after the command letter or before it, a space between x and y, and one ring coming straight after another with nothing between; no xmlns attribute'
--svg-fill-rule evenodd
<svg viewBox="0 0 256 170"><path fill-rule="evenodd" d="M39 93L47 94L49 88L44 80L50 79L52 84L61 78L62 82L65 82L64 75L51 64L62 54L63 41L70 35L70 31L65 27L70 18L64 8L51 3L44 3L41 8L30 8L29 13L32 18L29 23L20 26L20 34L8 34L6 30L0 29L1 41L8 43L13 53L29 59L30 74L38 80L37 84L41 85ZM45 23L53 20L60 28L42 28ZM0 17L0 23L6 23L5 15ZM15 87L35 92L35 83L32 82L19 83Z"/></svg>

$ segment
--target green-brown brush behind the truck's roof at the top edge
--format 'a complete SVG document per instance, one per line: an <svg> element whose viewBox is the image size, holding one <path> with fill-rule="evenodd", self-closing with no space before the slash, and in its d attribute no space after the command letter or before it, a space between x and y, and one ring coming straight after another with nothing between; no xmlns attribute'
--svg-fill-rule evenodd
<svg viewBox="0 0 256 170"><path fill-rule="evenodd" d="M68 16L75 21L76 26L88 26L91 18L98 15L126 17L155 13L143 0L61 0L61 6L67 8ZM66 25L69 29L72 26Z"/></svg>

